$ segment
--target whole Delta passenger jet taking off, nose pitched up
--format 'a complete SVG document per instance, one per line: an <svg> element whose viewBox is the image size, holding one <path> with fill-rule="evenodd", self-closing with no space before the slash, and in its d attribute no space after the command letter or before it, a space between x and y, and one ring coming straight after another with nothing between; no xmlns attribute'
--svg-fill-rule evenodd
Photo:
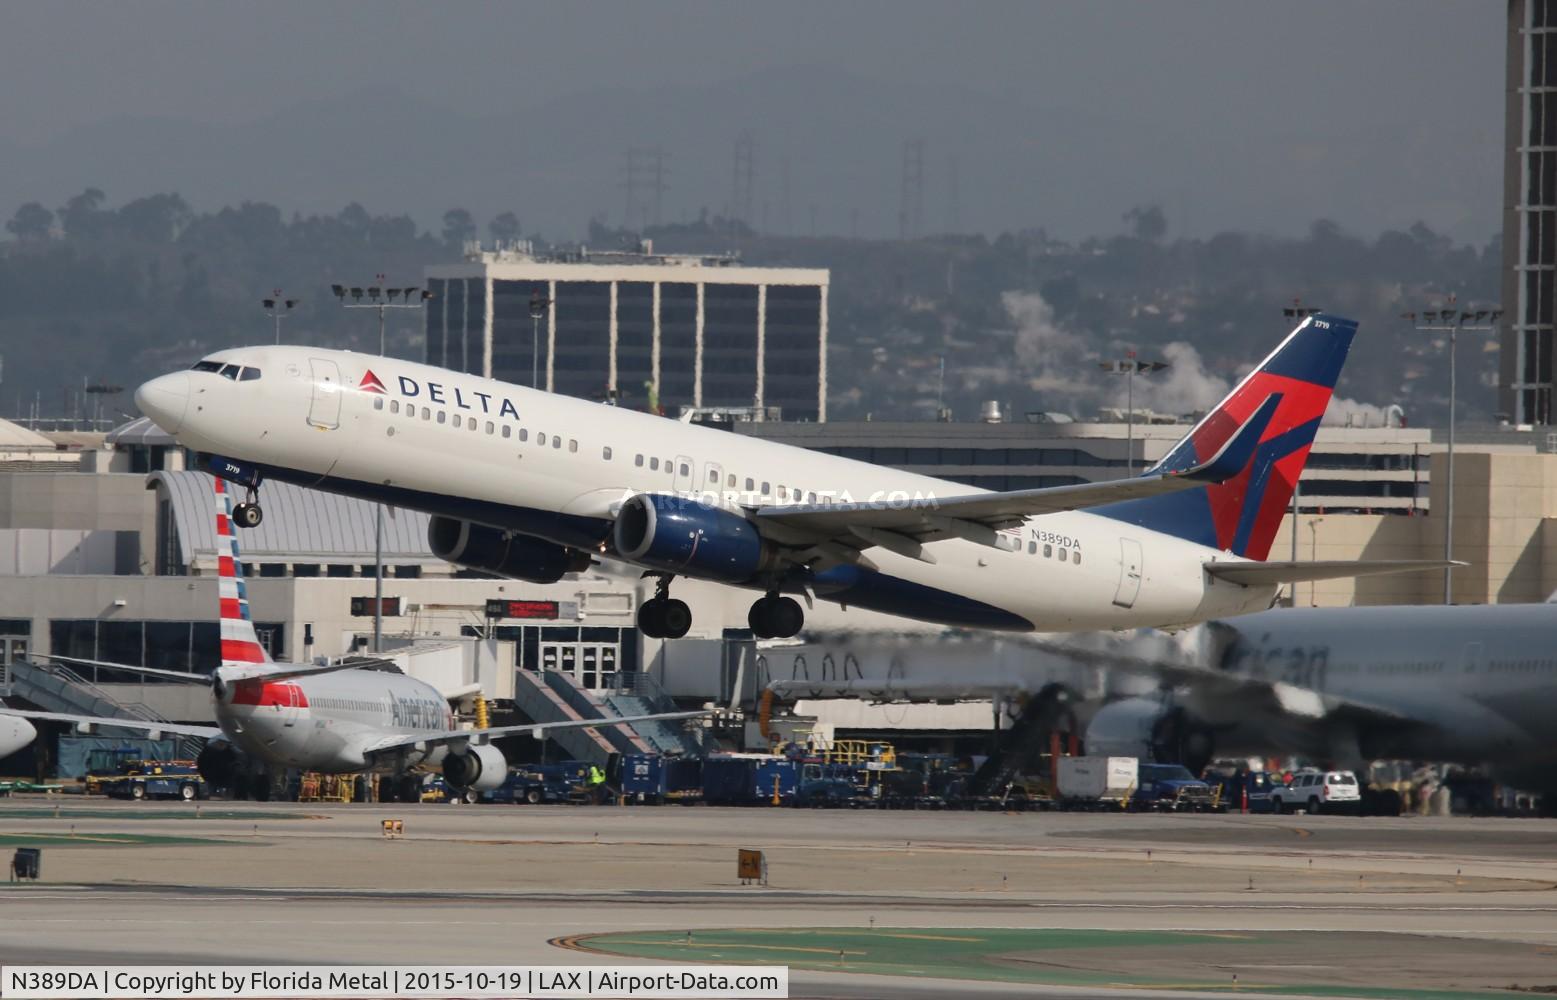
<svg viewBox="0 0 1557 1000"><path fill-rule="evenodd" d="M758 637L789 595L1015 631L1177 626L1269 607L1281 583L1442 562L1263 562L1356 324L1316 315L1154 469L973 491L427 364L316 347L221 350L135 391L216 475L433 514L433 550L551 583L593 556L659 579L640 629L691 625L674 576L749 587Z"/></svg>

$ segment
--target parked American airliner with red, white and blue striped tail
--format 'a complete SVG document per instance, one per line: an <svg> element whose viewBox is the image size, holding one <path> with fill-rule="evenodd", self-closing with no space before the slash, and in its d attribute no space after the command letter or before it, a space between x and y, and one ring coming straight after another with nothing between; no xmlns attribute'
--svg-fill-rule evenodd
<svg viewBox="0 0 1557 1000"><path fill-rule="evenodd" d="M461 790L497 788L508 777L497 737L553 729L590 727L646 720L680 720L707 712L671 712L612 720L537 723L490 729L459 729L448 701L433 685L392 670L339 665L276 664L260 645L249 620L243 564L234 537L230 494L215 480L218 601L221 607L221 665L212 674L129 667L100 660L72 660L190 682L210 684L216 726L146 723L0 707L0 721L26 718L73 723L81 727L137 729L153 738L192 735L212 740L201 754L201 774L213 785L230 787L251 762L327 774L377 771L397 776L395 798L414 801L417 765L442 765L444 777ZM65 659L65 657L59 657ZM3 748L0 748L3 749ZM3 754L0 754L3 755ZM263 776L262 776L263 777ZM268 780L254 783L257 798Z"/></svg>

